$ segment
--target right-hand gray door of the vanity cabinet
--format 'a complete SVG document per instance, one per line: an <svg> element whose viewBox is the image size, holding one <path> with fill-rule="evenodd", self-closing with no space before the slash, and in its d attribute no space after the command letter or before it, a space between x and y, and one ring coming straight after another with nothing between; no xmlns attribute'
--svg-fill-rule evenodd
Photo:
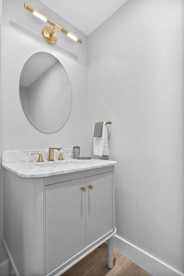
<svg viewBox="0 0 184 276"><path fill-rule="evenodd" d="M88 185L93 185L90 189ZM86 246L112 230L112 172L86 177Z"/></svg>

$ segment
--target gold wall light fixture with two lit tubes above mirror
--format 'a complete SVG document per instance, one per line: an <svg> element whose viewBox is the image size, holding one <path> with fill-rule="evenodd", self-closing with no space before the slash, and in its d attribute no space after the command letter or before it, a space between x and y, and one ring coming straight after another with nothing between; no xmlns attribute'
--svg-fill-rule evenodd
<svg viewBox="0 0 184 276"><path fill-rule="evenodd" d="M32 12L32 14L34 14L35 16L37 16L38 18L40 18L41 20L49 23L51 26L53 26L54 28L51 27L45 27L42 30L42 35L43 38L49 43L49 44L55 44L57 41L57 34L56 31L60 30L61 32L63 32L64 34L66 34L68 37L70 37L71 39L77 41L78 43L82 43L83 41L78 38L75 37L73 34L71 34L70 32L68 32L66 29L64 29L62 26L58 25L57 23L55 23L54 21L52 21L51 19L47 18L46 16L44 16L43 14L41 14L39 11L33 9L31 6L29 6L28 4L24 3L24 9L26 9L27 11Z"/></svg>

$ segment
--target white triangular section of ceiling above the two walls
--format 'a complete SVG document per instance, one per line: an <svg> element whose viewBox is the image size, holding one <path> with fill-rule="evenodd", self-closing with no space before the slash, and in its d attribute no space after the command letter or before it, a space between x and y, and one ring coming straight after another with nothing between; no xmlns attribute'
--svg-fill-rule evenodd
<svg viewBox="0 0 184 276"><path fill-rule="evenodd" d="M40 0L85 34L90 34L128 0Z"/></svg>

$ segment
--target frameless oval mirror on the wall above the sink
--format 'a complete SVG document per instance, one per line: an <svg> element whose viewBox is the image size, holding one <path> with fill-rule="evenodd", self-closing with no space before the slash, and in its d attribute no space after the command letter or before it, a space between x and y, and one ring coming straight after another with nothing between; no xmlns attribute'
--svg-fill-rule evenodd
<svg viewBox="0 0 184 276"><path fill-rule="evenodd" d="M61 62L46 52L33 54L20 75L19 94L28 121L43 133L59 131L66 123L72 91Z"/></svg>

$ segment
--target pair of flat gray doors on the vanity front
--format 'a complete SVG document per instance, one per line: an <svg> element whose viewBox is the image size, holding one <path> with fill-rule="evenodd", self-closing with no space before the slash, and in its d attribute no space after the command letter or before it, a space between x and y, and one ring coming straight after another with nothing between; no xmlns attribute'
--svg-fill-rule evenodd
<svg viewBox="0 0 184 276"><path fill-rule="evenodd" d="M46 274L110 230L112 172L45 186Z"/></svg>

